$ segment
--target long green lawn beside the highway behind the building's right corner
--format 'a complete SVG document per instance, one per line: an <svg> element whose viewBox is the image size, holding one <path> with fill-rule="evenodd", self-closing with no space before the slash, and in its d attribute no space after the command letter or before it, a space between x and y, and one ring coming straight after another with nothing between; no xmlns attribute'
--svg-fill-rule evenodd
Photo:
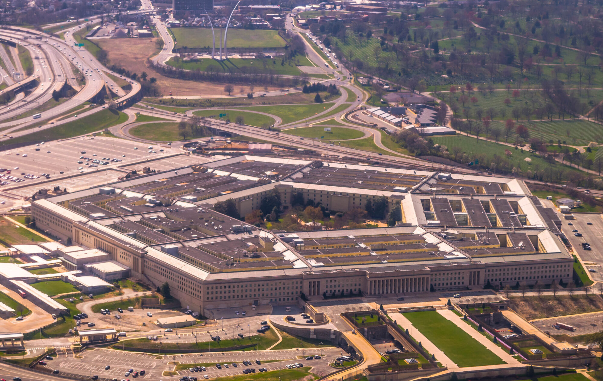
<svg viewBox="0 0 603 381"><path fill-rule="evenodd" d="M516 150L514 147L485 141L484 139L478 140L466 135L434 136L432 140L434 141L434 144L443 144L446 146L451 153L455 147L460 149L460 152L463 153L463 155L467 155L466 157L463 156L465 157L464 159L461 159L461 156L459 156L459 159L463 161L461 164L465 164L474 159L478 159L479 162L490 163L493 160L494 155L496 155L500 161L499 168L508 167L509 169L512 169L513 167L516 167L523 172L528 170L534 171L536 168L546 169L548 167L562 167L565 170L570 170L569 165L564 165L559 162L549 164L545 159L538 155L532 155L528 151ZM510 156L506 155L506 150L510 152ZM531 162L526 162L525 158L531 159ZM494 170L494 168L491 169ZM575 170L575 168L572 168L571 170Z"/></svg>

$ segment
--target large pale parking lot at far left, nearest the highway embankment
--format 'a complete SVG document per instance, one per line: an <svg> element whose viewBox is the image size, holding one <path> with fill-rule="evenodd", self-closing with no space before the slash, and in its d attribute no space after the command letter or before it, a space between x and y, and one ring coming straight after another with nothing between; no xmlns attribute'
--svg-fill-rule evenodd
<svg viewBox="0 0 603 381"><path fill-rule="evenodd" d="M153 148L148 149L147 144L141 145L139 142L131 142L125 139L84 136L68 141L43 142L43 144L40 142L32 146L7 150L0 155L0 166L11 170L11 175L20 179L24 179L25 176L21 173L40 176L37 179L25 179L25 182L33 183L44 180L42 174L49 174L52 178L65 174L86 173L104 167L117 167L118 165L127 164L128 161L133 162L144 158L154 159L170 155L172 152L178 152L178 149L172 149L171 146L159 147L153 145L151 147ZM155 153L149 153L149 150ZM89 158L89 160L86 161L81 156ZM96 167L94 167L95 164L92 161L96 159L108 164L96 163ZM121 161L112 162L111 159ZM78 163L80 161L81 163ZM6 174L6 172L3 174ZM9 181L9 183L7 187L20 184L15 181Z"/></svg>

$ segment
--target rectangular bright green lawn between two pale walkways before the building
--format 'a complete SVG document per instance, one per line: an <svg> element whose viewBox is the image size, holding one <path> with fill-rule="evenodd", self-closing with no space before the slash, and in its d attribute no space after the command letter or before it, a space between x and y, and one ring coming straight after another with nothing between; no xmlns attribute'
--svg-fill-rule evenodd
<svg viewBox="0 0 603 381"><path fill-rule="evenodd" d="M505 363L468 333L435 311L409 312L404 316L461 368Z"/></svg>

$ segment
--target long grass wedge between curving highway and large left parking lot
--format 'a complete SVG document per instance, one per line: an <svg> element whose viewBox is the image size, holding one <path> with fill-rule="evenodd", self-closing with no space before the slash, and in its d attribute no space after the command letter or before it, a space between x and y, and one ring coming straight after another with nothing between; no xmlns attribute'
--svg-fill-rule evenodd
<svg viewBox="0 0 603 381"><path fill-rule="evenodd" d="M104 109L87 117L78 118L69 123L52 127L36 133L19 136L18 138L0 142L0 146L15 144L21 142L52 141L57 139L71 138L72 136L85 135L106 129L115 124L124 123L128 120L128 115L117 110Z"/></svg>

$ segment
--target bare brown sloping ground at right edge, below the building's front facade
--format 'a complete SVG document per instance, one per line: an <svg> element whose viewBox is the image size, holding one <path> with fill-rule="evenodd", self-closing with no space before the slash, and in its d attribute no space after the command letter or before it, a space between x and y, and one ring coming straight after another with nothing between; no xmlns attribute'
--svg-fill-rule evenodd
<svg viewBox="0 0 603 381"><path fill-rule="evenodd" d="M510 307L528 320L603 310L603 298L599 295L526 296L509 301Z"/></svg>

